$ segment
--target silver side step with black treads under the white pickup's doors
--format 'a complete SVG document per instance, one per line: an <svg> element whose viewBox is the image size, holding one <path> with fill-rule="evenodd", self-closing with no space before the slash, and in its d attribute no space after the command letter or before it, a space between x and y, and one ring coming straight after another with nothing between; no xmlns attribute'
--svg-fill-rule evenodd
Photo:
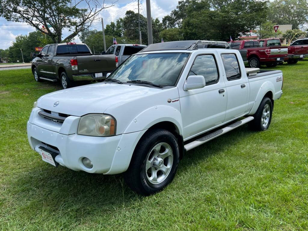
<svg viewBox="0 0 308 231"><path fill-rule="evenodd" d="M240 126L242 126L243 124L247 124L249 121L253 120L253 116L249 116L249 117L246 117L245 119L243 120L239 120L233 124L230 124L228 125L227 127L225 128L221 128L213 133L210 133L206 136L203 136L197 140L194 140L192 141L191 143L188 143L188 144L185 144L184 145L184 148L186 149L186 151L189 151L193 148L196 148L198 147L199 145L201 144L205 144L206 142L210 141L210 140L213 140L214 138L218 137L218 136L221 136L227 132L230 132L232 131L233 129L235 128L238 128Z"/></svg>

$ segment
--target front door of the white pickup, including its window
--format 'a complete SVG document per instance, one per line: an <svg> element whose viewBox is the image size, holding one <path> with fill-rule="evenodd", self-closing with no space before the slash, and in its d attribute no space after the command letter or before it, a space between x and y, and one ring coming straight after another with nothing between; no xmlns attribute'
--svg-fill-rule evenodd
<svg viewBox="0 0 308 231"><path fill-rule="evenodd" d="M215 54L198 55L188 76L203 75L206 86L188 91L179 87L184 139L225 120L227 97L225 82L220 72Z"/></svg>

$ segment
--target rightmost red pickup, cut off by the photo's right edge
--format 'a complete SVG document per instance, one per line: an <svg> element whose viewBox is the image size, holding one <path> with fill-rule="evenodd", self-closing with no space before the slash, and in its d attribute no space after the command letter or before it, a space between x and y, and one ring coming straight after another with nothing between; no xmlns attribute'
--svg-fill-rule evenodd
<svg viewBox="0 0 308 231"><path fill-rule="evenodd" d="M290 64L297 63L299 59L308 57L308 38L298 39L288 47Z"/></svg>

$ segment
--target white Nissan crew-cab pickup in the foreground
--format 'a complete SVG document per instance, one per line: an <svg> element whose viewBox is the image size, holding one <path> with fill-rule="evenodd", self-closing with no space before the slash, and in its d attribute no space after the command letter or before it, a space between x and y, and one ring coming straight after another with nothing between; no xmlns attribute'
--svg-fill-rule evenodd
<svg viewBox="0 0 308 231"><path fill-rule="evenodd" d="M192 148L248 123L271 122L281 71L248 71L239 51L198 49L206 41L149 45L105 82L43 95L27 123L42 159L76 171L117 174L156 193Z"/></svg>

